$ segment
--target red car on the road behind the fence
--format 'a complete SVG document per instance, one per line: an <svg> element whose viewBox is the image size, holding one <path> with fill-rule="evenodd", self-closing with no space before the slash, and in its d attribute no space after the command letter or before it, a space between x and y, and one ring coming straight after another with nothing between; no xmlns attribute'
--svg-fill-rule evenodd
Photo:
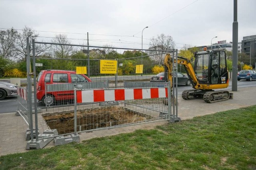
<svg viewBox="0 0 256 170"><path fill-rule="evenodd" d="M53 105L56 101L74 99L74 91L68 89L68 85L63 83L84 83L91 80L84 74L76 74L76 71L70 70L42 70L36 78L36 97L43 101L43 105ZM53 91L45 92L45 83L59 84ZM47 99L47 100L46 100ZM47 102L47 103L46 103Z"/></svg>

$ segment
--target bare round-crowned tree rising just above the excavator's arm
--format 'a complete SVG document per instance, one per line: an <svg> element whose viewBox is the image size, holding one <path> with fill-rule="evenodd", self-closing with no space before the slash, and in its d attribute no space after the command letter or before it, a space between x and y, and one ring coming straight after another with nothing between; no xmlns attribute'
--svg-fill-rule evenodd
<svg viewBox="0 0 256 170"><path fill-rule="evenodd" d="M175 42L172 36L166 36L164 34L158 35L157 38L152 38L150 41L150 49L159 50L159 51L150 51L150 54L156 54L152 56L152 59L158 62L158 65L164 63L164 51L162 50L173 50L175 47Z"/></svg>

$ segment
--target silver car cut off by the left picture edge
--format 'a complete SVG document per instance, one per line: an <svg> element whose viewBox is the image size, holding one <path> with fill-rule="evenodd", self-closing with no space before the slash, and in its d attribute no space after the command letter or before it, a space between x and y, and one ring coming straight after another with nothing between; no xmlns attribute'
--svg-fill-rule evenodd
<svg viewBox="0 0 256 170"><path fill-rule="evenodd" d="M0 100L17 95L17 87L14 84L0 81Z"/></svg>

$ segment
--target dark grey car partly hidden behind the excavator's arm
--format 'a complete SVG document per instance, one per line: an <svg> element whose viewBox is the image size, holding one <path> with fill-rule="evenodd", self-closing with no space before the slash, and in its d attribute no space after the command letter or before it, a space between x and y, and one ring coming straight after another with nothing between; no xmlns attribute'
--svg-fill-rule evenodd
<svg viewBox="0 0 256 170"><path fill-rule="evenodd" d="M178 77L178 85L191 85L191 80L188 79L186 75L180 72L177 72L177 75L175 72L173 73L174 78ZM150 82L166 82L166 80L164 79L164 72L161 72L155 76L152 76L150 79Z"/></svg>

